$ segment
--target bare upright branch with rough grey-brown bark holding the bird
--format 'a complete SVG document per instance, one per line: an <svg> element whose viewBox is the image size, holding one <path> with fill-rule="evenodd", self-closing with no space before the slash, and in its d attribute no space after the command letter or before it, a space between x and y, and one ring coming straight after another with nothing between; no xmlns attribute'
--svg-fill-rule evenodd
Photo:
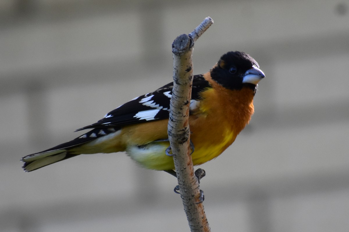
<svg viewBox="0 0 349 232"><path fill-rule="evenodd" d="M189 106L193 83L192 53L194 42L212 23L213 20L210 17L205 18L193 32L189 35L178 36L172 44L173 90L168 135L180 195L192 232L210 231L203 204L196 204L199 202L200 189L190 156Z"/></svg>

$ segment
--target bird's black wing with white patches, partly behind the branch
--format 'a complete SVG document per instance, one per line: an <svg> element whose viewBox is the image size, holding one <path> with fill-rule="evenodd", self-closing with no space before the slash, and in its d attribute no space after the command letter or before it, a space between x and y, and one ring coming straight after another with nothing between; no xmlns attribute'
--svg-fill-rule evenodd
<svg viewBox="0 0 349 232"><path fill-rule="evenodd" d="M76 131L91 128L110 128L122 125L135 124L151 120L169 118L170 99L172 96L173 82L164 85L154 92L132 99L107 113L98 122ZM193 78L192 100L200 99L200 92L210 88L210 84L203 75L195 75Z"/></svg>

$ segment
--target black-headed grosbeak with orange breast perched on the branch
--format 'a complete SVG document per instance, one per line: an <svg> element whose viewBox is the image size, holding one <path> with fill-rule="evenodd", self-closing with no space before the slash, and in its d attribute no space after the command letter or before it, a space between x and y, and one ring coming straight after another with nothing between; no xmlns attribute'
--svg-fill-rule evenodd
<svg viewBox="0 0 349 232"><path fill-rule="evenodd" d="M227 149L254 112L257 83L265 77L258 63L244 52L228 52L206 74L193 78L189 125L194 165L205 163ZM173 82L136 97L107 113L76 139L23 157L30 172L80 154L125 151L147 169L170 171L173 158L167 125Z"/></svg>

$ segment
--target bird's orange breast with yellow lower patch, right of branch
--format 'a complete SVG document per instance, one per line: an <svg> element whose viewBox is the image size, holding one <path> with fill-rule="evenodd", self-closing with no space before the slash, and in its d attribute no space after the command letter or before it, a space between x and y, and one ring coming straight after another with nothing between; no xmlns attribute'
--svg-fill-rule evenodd
<svg viewBox="0 0 349 232"><path fill-rule="evenodd" d="M194 165L205 163L227 149L254 112L253 90L228 90L215 82L211 84L213 89L202 93L200 113L189 120L195 146Z"/></svg>

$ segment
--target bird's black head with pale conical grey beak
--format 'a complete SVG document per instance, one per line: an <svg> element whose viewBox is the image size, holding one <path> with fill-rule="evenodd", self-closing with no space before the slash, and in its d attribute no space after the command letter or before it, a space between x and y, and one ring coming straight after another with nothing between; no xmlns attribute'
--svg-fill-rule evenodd
<svg viewBox="0 0 349 232"><path fill-rule="evenodd" d="M211 77L228 89L242 89L244 86L255 89L265 77L257 61L244 52L228 52L222 55L217 65L211 69Z"/></svg>

